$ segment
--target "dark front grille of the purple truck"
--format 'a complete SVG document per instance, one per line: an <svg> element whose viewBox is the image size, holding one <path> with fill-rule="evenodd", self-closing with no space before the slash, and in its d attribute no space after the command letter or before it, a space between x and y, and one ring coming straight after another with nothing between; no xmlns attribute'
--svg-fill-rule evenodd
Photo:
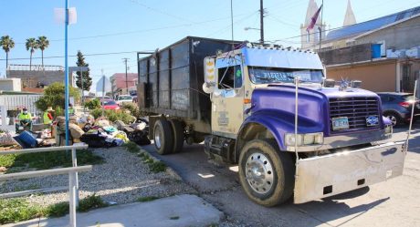
<svg viewBox="0 0 420 227"><path fill-rule="evenodd" d="M359 129L373 129L379 128L377 126L367 126L366 117L378 116L379 106L378 99L373 97L352 97L352 98L330 98L330 118L347 117L349 119L349 129L332 131L330 122L330 129L332 133L339 133L341 131L359 130Z"/></svg>

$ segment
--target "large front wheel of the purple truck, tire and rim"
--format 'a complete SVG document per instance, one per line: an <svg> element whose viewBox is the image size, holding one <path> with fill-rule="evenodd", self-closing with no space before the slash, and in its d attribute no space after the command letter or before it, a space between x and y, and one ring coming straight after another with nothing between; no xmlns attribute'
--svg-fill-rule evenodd
<svg viewBox="0 0 420 227"><path fill-rule="evenodd" d="M287 201L294 190L295 164L275 140L254 139L239 156L239 180L252 201L266 207Z"/></svg>

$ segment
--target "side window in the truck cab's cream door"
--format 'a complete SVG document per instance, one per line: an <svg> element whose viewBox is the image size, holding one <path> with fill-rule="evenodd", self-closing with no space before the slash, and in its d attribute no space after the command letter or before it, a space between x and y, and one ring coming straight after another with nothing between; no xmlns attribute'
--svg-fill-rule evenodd
<svg viewBox="0 0 420 227"><path fill-rule="evenodd" d="M242 87L242 70L240 66L221 67L217 72L219 89Z"/></svg>

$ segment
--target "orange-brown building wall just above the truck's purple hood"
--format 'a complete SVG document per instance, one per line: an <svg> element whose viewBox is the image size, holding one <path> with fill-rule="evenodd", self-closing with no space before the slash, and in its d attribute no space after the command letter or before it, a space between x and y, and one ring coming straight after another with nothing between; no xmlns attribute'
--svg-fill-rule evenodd
<svg viewBox="0 0 420 227"><path fill-rule="evenodd" d="M396 62L368 63L346 67L327 67L327 77L340 81L362 80L362 88L380 91L395 91Z"/></svg>

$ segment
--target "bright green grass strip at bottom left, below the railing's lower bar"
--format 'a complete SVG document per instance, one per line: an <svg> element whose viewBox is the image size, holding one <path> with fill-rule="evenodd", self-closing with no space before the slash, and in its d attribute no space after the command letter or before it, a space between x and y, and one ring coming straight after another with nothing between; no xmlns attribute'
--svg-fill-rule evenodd
<svg viewBox="0 0 420 227"><path fill-rule="evenodd" d="M95 194L79 201L78 212L106 207L108 204ZM42 208L30 205L25 199L0 200L0 224L22 222L37 217L61 217L69 212L68 201Z"/></svg>

